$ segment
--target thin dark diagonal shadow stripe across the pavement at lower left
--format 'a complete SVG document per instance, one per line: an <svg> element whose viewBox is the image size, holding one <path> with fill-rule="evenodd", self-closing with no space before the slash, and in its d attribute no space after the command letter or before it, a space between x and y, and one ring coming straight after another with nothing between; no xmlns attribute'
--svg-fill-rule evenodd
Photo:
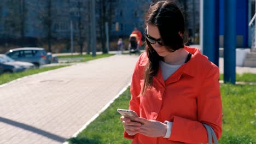
<svg viewBox="0 0 256 144"><path fill-rule="evenodd" d="M15 121L12 121L12 120L7 119L7 118L0 117L0 122L6 123L6 124L10 124L10 125L13 125L15 127L19 127L19 128L25 129L27 131L32 131L33 133L37 133L39 135L48 137L49 139L52 139L54 141L64 142L66 140L65 137L57 136L57 135L51 134L51 133L49 133L47 131L40 130L38 128L32 127L32 126L27 125L27 124L15 122Z"/></svg>

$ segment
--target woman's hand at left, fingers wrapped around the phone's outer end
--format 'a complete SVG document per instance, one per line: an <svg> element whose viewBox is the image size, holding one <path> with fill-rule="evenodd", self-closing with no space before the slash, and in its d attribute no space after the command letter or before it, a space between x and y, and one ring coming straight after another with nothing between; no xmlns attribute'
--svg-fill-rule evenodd
<svg viewBox="0 0 256 144"><path fill-rule="evenodd" d="M129 135L135 135L138 133L138 130L141 128L141 123L132 122L131 119L125 118L124 116L120 117L120 121L123 122L124 129Z"/></svg>

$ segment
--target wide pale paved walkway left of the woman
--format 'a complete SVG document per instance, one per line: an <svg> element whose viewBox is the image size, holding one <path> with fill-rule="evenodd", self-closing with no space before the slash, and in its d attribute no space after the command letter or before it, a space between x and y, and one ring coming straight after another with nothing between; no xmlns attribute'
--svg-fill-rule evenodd
<svg viewBox="0 0 256 144"><path fill-rule="evenodd" d="M63 143L131 81L135 55L115 55L0 86L0 143Z"/></svg>

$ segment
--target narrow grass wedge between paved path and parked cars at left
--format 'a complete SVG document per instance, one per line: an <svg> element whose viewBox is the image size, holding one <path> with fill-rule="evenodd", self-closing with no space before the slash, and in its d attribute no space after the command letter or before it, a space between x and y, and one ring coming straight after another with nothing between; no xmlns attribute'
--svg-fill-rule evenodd
<svg viewBox="0 0 256 144"><path fill-rule="evenodd" d="M44 67L44 68L39 68L39 69L30 69L30 70L22 71L20 73L2 74L2 75L0 75L0 85L2 85L3 83L7 83L7 82L10 82L10 81L19 79L19 78L27 76L27 75L42 73L44 71L59 69L59 68L66 67L66 66L68 66L68 65L60 65L60 66L54 66L54 67Z"/></svg>

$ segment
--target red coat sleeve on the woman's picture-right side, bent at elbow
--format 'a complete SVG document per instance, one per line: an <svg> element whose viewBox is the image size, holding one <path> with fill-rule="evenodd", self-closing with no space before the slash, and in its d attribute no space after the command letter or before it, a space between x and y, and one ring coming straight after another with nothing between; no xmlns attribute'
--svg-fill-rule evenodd
<svg viewBox="0 0 256 144"><path fill-rule="evenodd" d="M222 134L222 102L220 99L219 69L214 65L203 79L197 97L197 121L173 116L169 140L185 143L208 143L207 131L202 123L210 125L217 139Z"/></svg>

